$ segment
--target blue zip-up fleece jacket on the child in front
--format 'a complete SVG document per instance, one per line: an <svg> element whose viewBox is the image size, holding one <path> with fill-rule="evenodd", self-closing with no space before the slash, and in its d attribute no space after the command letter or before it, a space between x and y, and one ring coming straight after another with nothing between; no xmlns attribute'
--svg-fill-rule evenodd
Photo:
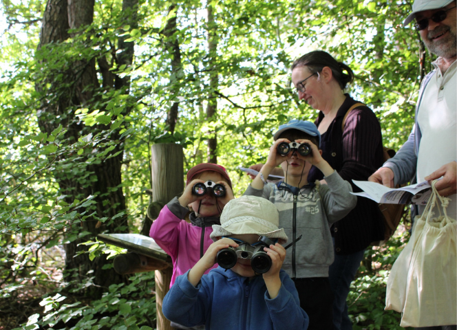
<svg viewBox="0 0 457 330"><path fill-rule="evenodd" d="M261 275L249 281L217 267L194 287L188 273L176 278L163 300L163 314L173 322L217 330L308 329L308 315L300 307L295 284L283 270L275 299L270 299Z"/></svg>

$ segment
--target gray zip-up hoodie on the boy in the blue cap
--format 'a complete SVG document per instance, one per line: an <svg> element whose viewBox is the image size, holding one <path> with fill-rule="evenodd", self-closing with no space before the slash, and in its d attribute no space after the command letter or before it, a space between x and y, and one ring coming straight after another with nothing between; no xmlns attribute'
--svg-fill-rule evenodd
<svg viewBox="0 0 457 330"><path fill-rule="evenodd" d="M266 184L264 189L248 186L244 195L264 197L279 211L279 228L284 228L289 243L303 237L287 250L282 268L291 278L328 277L333 263L330 225L352 210L357 197L351 195L348 181L334 171L325 177L327 184L307 184L298 189L284 182Z"/></svg>

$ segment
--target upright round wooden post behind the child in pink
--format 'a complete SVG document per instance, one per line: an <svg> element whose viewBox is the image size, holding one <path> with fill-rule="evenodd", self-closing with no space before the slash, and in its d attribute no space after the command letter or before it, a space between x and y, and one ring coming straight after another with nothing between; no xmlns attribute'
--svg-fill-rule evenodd
<svg viewBox="0 0 457 330"><path fill-rule="evenodd" d="M182 146L173 143L153 144L151 147L152 200L168 203L184 190L184 157ZM157 329L173 329L169 320L162 314L162 302L169 291L171 267L156 270L156 309Z"/></svg>

